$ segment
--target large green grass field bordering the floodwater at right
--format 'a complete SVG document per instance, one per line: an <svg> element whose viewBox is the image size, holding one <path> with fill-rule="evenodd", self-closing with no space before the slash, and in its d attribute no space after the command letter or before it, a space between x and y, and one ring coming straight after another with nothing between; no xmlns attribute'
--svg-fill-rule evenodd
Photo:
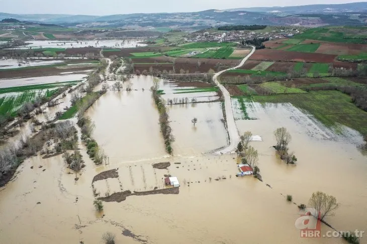
<svg viewBox="0 0 367 244"><path fill-rule="evenodd" d="M260 103L292 103L307 111L324 125L339 131L338 123L367 134L367 112L357 108L348 95L339 91L317 91L301 94L278 94L247 98Z"/></svg>

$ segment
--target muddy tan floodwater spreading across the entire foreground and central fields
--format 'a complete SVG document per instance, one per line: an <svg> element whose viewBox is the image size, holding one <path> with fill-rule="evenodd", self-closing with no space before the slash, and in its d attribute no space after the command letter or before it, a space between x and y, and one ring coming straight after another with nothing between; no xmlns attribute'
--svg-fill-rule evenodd
<svg viewBox="0 0 367 244"><path fill-rule="evenodd" d="M292 194L294 202L307 204L317 190L340 202L327 222L338 230L365 230L366 158L349 139L316 128L317 123L289 105L253 104L248 113L257 120L236 124L240 133L251 130L263 138L250 144L260 153L264 182L250 176L237 178L236 155L202 153L227 143L220 122L213 125L204 120L220 121L218 104L193 110L191 105L177 107L179 111L174 108L179 105L170 108L177 140L174 152L182 153L168 157L148 90L151 78L134 78L131 84L137 91L109 91L87 111L96 124L94 138L110 164L97 167L80 142L85 167L77 181L61 155L27 159L15 179L0 189L0 243L102 243L106 231L116 234L116 243L345 243L340 238L300 238L295 227L300 216L297 205L284 195ZM193 132L190 118L196 115L199 122ZM290 149L298 157L297 165L286 165L271 147L272 131L279 126L287 127L293 136ZM209 138L201 144L201 136ZM170 166L152 166L160 162ZM108 173L97 177L92 186L94 177L107 170L113 170L111 177ZM104 202L101 213L94 209L93 188L100 197L127 190L159 190L166 187L164 175L178 178L179 194L130 195L121 202ZM322 225L322 233L328 230Z"/></svg>

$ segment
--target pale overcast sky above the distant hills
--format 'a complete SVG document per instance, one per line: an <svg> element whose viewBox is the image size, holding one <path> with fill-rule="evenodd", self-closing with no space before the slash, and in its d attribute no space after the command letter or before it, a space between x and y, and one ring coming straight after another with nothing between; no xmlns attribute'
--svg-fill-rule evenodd
<svg viewBox="0 0 367 244"><path fill-rule="evenodd" d="M0 12L12 14L114 15L131 13L195 12L209 9L343 4L365 0L0 0Z"/></svg>

